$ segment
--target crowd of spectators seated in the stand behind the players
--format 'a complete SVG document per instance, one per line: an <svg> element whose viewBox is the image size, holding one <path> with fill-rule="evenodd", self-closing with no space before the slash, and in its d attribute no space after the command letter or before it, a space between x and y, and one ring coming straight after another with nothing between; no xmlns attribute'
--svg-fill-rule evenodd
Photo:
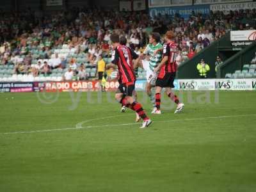
<svg viewBox="0 0 256 192"><path fill-rule="evenodd" d="M14 74L50 76L60 68L65 79L88 79L86 68L97 68L99 60L111 56L109 36L113 31L125 36L127 44L140 54L152 31L164 34L168 29L175 32L180 64L230 30L255 29L252 18L256 18L255 10L230 11L228 15L192 13L188 20L179 15L152 19L145 12L89 8L51 15L29 9L10 14L0 11L0 65L13 65ZM66 54L61 54L64 48Z"/></svg>

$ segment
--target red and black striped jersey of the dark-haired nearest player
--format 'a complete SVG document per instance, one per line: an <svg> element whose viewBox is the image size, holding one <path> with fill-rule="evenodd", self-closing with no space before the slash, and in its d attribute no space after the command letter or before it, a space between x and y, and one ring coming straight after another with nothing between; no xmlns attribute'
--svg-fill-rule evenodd
<svg viewBox="0 0 256 192"><path fill-rule="evenodd" d="M131 48L119 45L112 52L112 63L118 66L119 81L122 84L134 84L136 76L133 70L132 60L136 60L136 54Z"/></svg>

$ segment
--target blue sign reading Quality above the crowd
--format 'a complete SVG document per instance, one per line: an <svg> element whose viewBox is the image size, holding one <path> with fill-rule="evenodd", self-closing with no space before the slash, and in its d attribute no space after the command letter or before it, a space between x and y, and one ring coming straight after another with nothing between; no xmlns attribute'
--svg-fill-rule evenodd
<svg viewBox="0 0 256 192"><path fill-rule="evenodd" d="M168 6L168 7L155 7L149 8L150 17L155 17L157 15L175 15L178 13L180 17L188 19L192 12L202 13L202 15L207 15L210 13L209 4L193 5L193 6Z"/></svg>

